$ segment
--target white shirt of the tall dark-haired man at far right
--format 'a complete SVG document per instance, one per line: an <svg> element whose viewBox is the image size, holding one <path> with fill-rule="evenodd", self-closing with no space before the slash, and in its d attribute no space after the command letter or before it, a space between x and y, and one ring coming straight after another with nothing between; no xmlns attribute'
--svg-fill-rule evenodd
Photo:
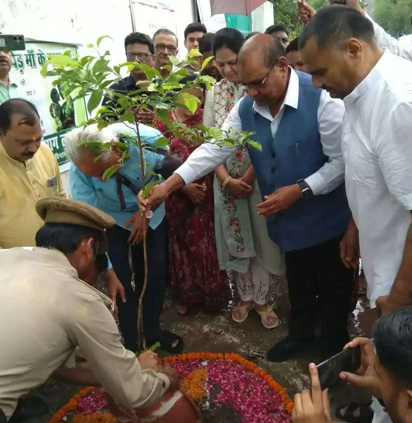
<svg viewBox="0 0 412 423"><path fill-rule="evenodd" d="M411 62L385 51L344 100L346 192L374 307L391 290L411 224L411 75Z"/></svg>

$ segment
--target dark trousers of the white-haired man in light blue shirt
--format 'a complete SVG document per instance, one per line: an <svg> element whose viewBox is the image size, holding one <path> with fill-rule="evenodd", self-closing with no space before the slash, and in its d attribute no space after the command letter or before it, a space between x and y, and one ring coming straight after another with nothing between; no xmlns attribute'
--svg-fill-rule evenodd
<svg viewBox="0 0 412 423"><path fill-rule="evenodd" d="M143 242L131 246L135 291L131 285L132 272L129 266L130 231L120 226L107 229L108 253L113 269L120 279L126 294L126 303L117 299L120 330L125 347L135 351L137 345L137 305L144 281ZM143 300L143 331L145 338L158 339L159 317L163 307L167 276L166 268L166 224L165 220L155 229L147 231L147 289Z"/></svg>

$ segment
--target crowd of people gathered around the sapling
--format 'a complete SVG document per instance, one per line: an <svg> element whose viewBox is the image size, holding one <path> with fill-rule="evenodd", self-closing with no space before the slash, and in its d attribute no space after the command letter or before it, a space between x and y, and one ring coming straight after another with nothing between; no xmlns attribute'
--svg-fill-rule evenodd
<svg viewBox="0 0 412 423"><path fill-rule="evenodd" d="M271 281L285 275L289 333L267 359L290 360L314 345L326 359L362 346L358 374L341 379L374 396L368 419L411 421L412 43L387 34L358 0L318 12L300 1L298 13L305 27L293 40L278 24L246 38L233 28L186 27L185 48L202 56L181 82L193 82L199 71L217 82L210 91L192 84L186 91L198 98L197 110L179 97L169 120L252 131L262 150L194 146L152 110L139 109L142 140L153 149L158 138L169 140L169 153L144 151L146 172L163 177L146 198L133 144L119 171L102 179L122 156L117 141L128 142L122 123L67 135L67 198L57 162L41 142L35 106L13 98L11 52L0 51L0 318L8 322L0 332L7 346L0 352L1 423L15 419L19 398L50 375L101 385L128 409L147 407L177 387L176 373L156 354L135 356L143 234L148 345L159 342L171 354L184 349L178 334L160 328L169 282L180 315L197 304L219 312L231 275L238 296L232 319L241 324L254 310L273 330L279 319ZM124 48L128 61L165 77L179 46L162 28L153 37L130 33ZM141 95L136 87L145 79L136 67L111 88ZM115 98L102 104L115 107ZM111 147L84 146L93 141ZM170 157L180 164L172 171ZM371 308L383 315L374 326L376 352L369 340L350 341L348 334L360 256ZM100 277L107 296L92 287ZM86 362L76 365L76 347ZM330 422L313 365L310 374L312 390L295 397L293 419ZM338 417L356 421L368 407L348 405Z"/></svg>

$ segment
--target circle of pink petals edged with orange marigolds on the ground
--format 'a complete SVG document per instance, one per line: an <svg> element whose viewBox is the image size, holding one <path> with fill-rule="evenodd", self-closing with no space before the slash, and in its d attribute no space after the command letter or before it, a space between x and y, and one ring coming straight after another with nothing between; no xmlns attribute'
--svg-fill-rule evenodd
<svg viewBox="0 0 412 423"><path fill-rule="evenodd" d="M195 360L205 360L206 362L202 363ZM213 362L214 360L215 362ZM294 404L286 393L286 390L279 383L274 381L273 377L265 370L259 368L255 363L244 359L239 354L207 352L188 353L169 356L163 361L165 363L172 363L172 365L174 363L180 375L181 389L192 397L198 405L202 405L208 393L211 392L212 387L210 386L210 382L212 381L212 383L217 383L218 386L220 384L220 386L224 387L224 390L226 390L225 392L220 392L218 397L216 397L217 406L218 404L226 402L235 405L236 400L233 402L233 398L230 398L231 395L237 395L238 400L241 399L239 400L241 404L236 404L235 409L237 412L241 413L240 416L242 416L242 421L269 421L267 420L268 414L261 414L261 416L257 415L257 413L260 413L260 409L256 408L258 403L255 401L249 403L251 406L243 404L247 398L242 394L244 392L249 398L251 398L251 395L255 395L255 398L269 398L269 402L273 403L274 401L275 405L276 402L278 402L278 404L279 402L283 403L287 413L283 411L285 414L281 420L282 422L290 422L290 417L287 416L288 414L292 415ZM228 361L239 363L250 373L246 371L237 373L239 371L236 369L239 369L239 367L231 366ZM198 367L199 364L204 367ZM256 377L260 379L256 379ZM239 384L235 386L236 382L239 382L238 379L240 380L241 378L244 378L243 381L249 381L251 385L254 385L256 391L253 391L253 389L251 391L250 386L245 385L245 382L240 382L244 384L244 388L239 387ZM235 381L235 385L228 385L228 380ZM233 382L230 383L233 384ZM267 387L275 392L277 396L272 398L269 395L268 397ZM237 393L232 392L236 389ZM248 407L254 408L254 410L249 410ZM271 410L276 410L276 407L278 406L275 406L275 408ZM270 408L268 410L270 410ZM116 423L114 416L108 412L107 400L104 393L99 388L93 387L86 387L78 394L74 395L70 401L53 416L49 423L60 423L63 418L65 418L65 422L72 423Z"/></svg>

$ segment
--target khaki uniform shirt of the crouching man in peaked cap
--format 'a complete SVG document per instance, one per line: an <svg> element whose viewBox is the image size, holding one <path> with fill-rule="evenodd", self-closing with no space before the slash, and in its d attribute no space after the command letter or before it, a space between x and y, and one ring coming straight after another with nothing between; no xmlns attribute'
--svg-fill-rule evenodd
<svg viewBox="0 0 412 423"><path fill-rule="evenodd" d="M148 406L169 388L166 375L140 369L124 349L108 310L111 301L77 277L57 250L0 250L0 409L7 419L17 400L65 363L79 346L116 403ZM69 363L70 362L70 363Z"/></svg>

